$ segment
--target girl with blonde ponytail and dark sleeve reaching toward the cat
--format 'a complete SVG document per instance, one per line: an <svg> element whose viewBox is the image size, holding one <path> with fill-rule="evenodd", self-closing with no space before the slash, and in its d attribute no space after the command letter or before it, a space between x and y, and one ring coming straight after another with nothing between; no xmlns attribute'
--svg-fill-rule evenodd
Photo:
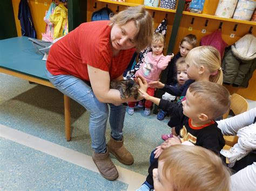
<svg viewBox="0 0 256 191"><path fill-rule="evenodd" d="M218 84L223 83L223 71L221 69L221 57L219 51L212 46L198 46L193 48L186 56L187 76L189 80L181 87L173 87L159 81L150 83L150 86L163 89L175 96L185 96L188 87L193 82L210 81ZM171 116L173 113L170 114ZM169 121L170 126L178 124L174 117ZM162 137L171 137L170 134Z"/></svg>

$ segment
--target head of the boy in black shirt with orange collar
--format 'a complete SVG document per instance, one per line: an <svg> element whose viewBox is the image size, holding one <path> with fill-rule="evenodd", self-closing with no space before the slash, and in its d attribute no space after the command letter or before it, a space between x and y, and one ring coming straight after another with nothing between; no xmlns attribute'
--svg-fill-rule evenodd
<svg viewBox="0 0 256 191"><path fill-rule="evenodd" d="M218 83L194 82L188 88L182 104L185 116L202 123L225 114L230 108L230 93Z"/></svg>

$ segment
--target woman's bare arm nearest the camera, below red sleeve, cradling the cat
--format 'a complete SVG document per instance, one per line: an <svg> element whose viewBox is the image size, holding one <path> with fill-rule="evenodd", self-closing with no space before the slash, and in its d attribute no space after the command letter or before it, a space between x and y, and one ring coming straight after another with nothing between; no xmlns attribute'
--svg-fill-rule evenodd
<svg viewBox="0 0 256 191"><path fill-rule="evenodd" d="M116 89L110 89L110 76L109 72L87 65L90 83L92 86L93 93L102 103L124 103L124 102L135 102L133 97L121 99L120 92ZM142 83L145 85L145 81ZM146 89L147 86L140 87ZM143 97L140 97L142 100Z"/></svg>

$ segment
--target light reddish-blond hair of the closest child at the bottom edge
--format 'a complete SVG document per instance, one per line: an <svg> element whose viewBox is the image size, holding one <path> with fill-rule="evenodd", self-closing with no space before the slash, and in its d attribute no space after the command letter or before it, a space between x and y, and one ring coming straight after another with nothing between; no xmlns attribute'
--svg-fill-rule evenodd
<svg viewBox="0 0 256 191"><path fill-rule="evenodd" d="M173 145L159 157L163 176L174 190L230 190L230 173L221 159L200 146Z"/></svg>

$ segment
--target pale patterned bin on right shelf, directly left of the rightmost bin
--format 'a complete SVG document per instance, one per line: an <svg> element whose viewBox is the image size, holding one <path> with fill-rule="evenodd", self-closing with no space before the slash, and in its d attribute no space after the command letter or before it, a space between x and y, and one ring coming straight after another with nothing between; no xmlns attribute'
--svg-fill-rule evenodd
<svg viewBox="0 0 256 191"><path fill-rule="evenodd" d="M238 0L223 0L219 1L217 6L215 16L217 17L225 17L232 18L235 6L237 6Z"/></svg>

